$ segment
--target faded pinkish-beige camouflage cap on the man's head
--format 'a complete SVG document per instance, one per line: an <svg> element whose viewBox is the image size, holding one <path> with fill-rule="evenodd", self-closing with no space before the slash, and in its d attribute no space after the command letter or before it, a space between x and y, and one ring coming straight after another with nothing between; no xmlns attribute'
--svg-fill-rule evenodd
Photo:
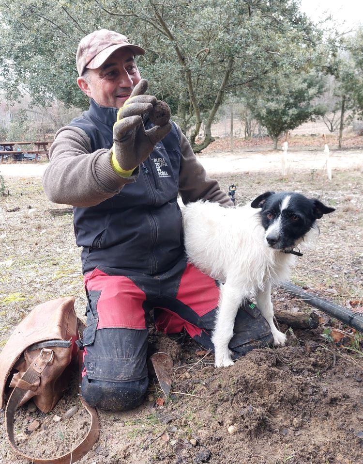
<svg viewBox="0 0 363 464"><path fill-rule="evenodd" d="M146 51L142 47L132 45L127 37L118 32L100 29L91 32L79 42L76 63L79 76L82 76L85 68L96 69L100 67L114 51L128 47L135 55L144 55Z"/></svg>

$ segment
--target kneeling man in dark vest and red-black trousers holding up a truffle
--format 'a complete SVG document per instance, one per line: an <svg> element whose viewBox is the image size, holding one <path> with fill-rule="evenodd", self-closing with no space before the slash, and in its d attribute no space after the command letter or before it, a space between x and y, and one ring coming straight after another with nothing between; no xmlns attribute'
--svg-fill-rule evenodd
<svg viewBox="0 0 363 464"><path fill-rule="evenodd" d="M151 310L158 330L185 329L213 349L219 290L186 262L177 195L184 203L204 198L232 205L181 129L171 121L151 123L156 98L144 94L147 83L135 62L144 53L105 29L81 40L77 83L91 106L57 132L43 178L50 200L75 207L76 243L83 247L82 395L110 410L134 408L144 398ZM256 340L272 341L253 305L240 309L235 332L230 348L236 357Z"/></svg>

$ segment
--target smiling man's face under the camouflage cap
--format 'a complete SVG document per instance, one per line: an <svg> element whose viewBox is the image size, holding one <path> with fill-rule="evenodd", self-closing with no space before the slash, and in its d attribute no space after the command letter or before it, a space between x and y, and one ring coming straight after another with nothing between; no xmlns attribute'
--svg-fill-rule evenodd
<svg viewBox="0 0 363 464"><path fill-rule="evenodd" d="M79 88L101 106L121 108L137 82L141 80L129 48L119 48L97 69L88 70L89 78L77 79Z"/></svg>

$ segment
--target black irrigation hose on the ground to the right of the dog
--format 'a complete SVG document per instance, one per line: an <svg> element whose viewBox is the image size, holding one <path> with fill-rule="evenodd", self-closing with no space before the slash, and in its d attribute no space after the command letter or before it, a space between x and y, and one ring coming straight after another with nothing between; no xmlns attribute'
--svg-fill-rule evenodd
<svg viewBox="0 0 363 464"><path fill-rule="evenodd" d="M344 306L340 306L339 304L335 304L324 300L323 298L319 298L313 293L309 293L302 288L297 287L296 285L290 284L289 282L282 284L281 288L286 290L291 295L298 296L307 304L310 304L311 306L324 311L324 313L330 314L334 318L345 322L346 324L350 325L350 327L354 327L360 332L363 332L362 313L353 313L353 311L350 311L350 309Z"/></svg>

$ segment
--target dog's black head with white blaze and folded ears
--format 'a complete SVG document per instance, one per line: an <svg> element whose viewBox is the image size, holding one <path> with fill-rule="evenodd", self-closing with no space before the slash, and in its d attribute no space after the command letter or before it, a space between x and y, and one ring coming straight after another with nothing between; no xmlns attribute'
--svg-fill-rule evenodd
<svg viewBox="0 0 363 464"><path fill-rule="evenodd" d="M265 192L251 203L252 208L261 208L262 225L266 230L267 244L282 251L297 246L315 221L335 208L325 206L317 198L306 198L295 192Z"/></svg>

